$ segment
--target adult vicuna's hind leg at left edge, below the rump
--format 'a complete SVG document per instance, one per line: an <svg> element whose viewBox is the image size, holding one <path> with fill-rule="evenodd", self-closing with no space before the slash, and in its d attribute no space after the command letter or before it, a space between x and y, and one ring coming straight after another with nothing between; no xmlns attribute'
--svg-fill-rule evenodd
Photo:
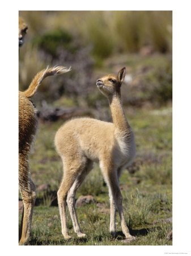
<svg viewBox="0 0 191 256"><path fill-rule="evenodd" d="M31 233L33 207L35 205L35 185L29 177L27 156L19 153L19 189L23 198L23 214L19 229L19 245L26 245Z"/></svg>

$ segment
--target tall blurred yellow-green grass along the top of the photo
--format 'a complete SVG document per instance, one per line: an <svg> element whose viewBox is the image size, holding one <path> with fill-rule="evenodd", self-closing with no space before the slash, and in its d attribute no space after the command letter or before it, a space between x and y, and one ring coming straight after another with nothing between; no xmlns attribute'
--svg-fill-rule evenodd
<svg viewBox="0 0 191 256"><path fill-rule="evenodd" d="M100 60L114 51L135 52L145 45L172 51L172 11L20 11L19 15L29 24L31 38L63 30L67 42L73 33ZM57 32L54 42L48 42L49 48L56 46L59 36Z"/></svg>

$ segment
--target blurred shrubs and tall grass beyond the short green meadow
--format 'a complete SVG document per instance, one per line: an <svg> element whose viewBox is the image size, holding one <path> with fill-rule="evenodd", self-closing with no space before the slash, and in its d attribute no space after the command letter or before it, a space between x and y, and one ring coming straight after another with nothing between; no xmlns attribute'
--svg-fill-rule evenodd
<svg viewBox="0 0 191 256"><path fill-rule="evenodd" d="M72 68L43 82L34 100L39 110L78 106L84 111L94 108L105 118L108 102L95 81L124 66L124 105L157 106L172 100L172 11L20 11L19 15L28 24L19 55L19 89L26 89L47 65Z"/></svg>

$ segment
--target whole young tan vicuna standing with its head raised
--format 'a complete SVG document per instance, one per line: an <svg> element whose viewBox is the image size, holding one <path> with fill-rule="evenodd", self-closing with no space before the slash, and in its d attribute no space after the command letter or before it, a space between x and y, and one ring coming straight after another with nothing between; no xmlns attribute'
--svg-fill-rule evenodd
<svg viewBox="0 0 191 256"><path fill-rule="evenodd" d="M111 200L110 232L116 235L116 206L120 214L122 232L129 233L122 209L122 195L119 177L135 156L135 142L131 127L122 108L120 87L125 77L125 68L118 75L107 75L97 80L100 92L109 100L113 123L92 118L77 118L66 122L56 133L55 145L63 161L63 179L58 190L58 205L61 215L62 234L71 238L66 224L66 200L74 231L78 237L85 237L79 227L75 210L75 192L90 172L92 162L99 162L101 172L109 187Z"/></svg>

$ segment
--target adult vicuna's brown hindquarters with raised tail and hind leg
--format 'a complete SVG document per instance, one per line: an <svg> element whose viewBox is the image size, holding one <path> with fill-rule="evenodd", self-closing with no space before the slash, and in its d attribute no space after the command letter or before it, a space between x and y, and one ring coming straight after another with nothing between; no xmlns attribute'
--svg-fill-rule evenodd
<svg viewBox="0 0 191 256"><path fill-rule="evenodd" d="M36 134L37 116L35 108L29 98L35 94L40 82L43 81L46 76L58 75L68 71L70 71L70 69L64 67L46 68L37 73L25 92L19 92L19 189L24 204L19 229L19 245L26 245L29 240L33 206L36 199L35 185L29 174L28 154L33 137Z"/></svg>

